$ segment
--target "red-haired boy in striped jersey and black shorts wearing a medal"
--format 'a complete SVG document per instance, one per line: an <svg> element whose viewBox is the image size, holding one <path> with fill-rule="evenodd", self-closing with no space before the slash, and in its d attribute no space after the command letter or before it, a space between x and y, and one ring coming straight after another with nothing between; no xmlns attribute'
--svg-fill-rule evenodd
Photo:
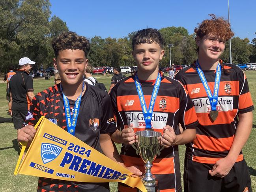
<svg viewBox="0 0 256 192"><path fill-rule="evenodd" d="M194 30L198 60L175 76L188 90L199 121L196 139L186 149L184 188L251 192L241 149L252 129L254 107L243 71L219 59L234 35L230 24L211 16Z"/></svg>

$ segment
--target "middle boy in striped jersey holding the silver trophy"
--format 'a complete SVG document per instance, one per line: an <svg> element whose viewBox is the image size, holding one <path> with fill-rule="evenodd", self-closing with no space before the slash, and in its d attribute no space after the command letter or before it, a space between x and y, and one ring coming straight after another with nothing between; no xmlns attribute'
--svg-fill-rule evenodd
<svg viewBox="0 0 256 192"><path fill-rule="evenodd" d="M156 29L140 30L133 37L133 58L138 72L118 81L110 91L118 130L112 140L122 143L125 166L138 166L145 173L144 162L131 146L135 132L153 129L163 134L164 148L151 168L161 191L181 192L178 145L195 138L198 123L191 99L180 82L159 72L163 58L163 37ZM179 123L184 131L180 134ZM122 183L120 192L136 192Z"/></svg>

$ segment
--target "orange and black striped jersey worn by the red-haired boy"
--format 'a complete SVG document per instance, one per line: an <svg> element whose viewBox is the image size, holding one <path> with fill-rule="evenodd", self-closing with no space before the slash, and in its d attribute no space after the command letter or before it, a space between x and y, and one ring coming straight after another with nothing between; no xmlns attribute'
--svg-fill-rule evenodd
<svg viewBox="0 0 256 192"><path fill-rule="evenodd" d="M254 110L243 71L230 64L224 64L224 69L229 72L225 74L222 67L217 103L219 115L214 122L209 117L211 105L195 66L192 64L175 76L189 92L199 121L196 139L187 144L186 150L186 157L196 162L215 164L220 158L226 157L234 140L238 113ZM216 71L204 71L204 75L213 93ZM241 160L242 151L237 162Z"/></svg>

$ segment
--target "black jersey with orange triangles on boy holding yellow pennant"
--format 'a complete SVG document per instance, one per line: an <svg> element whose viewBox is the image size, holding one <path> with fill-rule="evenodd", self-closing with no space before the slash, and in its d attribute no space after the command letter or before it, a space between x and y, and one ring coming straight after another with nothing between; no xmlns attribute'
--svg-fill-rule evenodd
<svg viewBox="0 0 256 192"><path fill-rule="evenodd" d="M75 101L69 99L71 115ZM60 84L38 93L26 117L27 125L35 125L41 116L67 131L65 110ZM96 126L97 125L97 126ZM101 151L99 144L100 134L115 132L116 125L111 107L110 97L105 91L86 84L82 95L75 137L93 148ZM108 183L81 183L39 177L38 192L109 192Z"/></svg>

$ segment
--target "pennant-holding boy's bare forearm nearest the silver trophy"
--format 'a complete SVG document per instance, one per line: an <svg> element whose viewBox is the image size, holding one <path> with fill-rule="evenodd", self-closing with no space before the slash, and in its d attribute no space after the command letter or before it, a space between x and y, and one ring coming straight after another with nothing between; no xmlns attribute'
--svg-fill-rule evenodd
<svg viewBox="0 0 256 192"><path fill-rule="evenodd" d="M100 145L104 155L124 166L123 161L116 149L116 145L111 140L110 134L101 134Z"/></svg>

